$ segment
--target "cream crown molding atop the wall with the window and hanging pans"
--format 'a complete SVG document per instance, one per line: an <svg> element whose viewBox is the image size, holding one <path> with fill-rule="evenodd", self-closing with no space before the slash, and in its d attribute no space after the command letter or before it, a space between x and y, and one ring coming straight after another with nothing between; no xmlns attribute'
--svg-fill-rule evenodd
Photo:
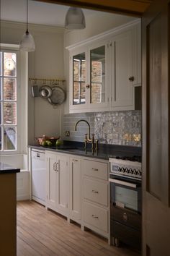
<svg viewBox="0 0 170 256"><path fill-rule="evenodd" d="M39 31L39 32L50 32L50 33L64 33L64 27L55 27L50 25L40 25L40 24L29 24L29 30ZM14 28L14 29L25 29L26 23L24 22L12 22L9 20L1 20L1 27Z"/></svg>

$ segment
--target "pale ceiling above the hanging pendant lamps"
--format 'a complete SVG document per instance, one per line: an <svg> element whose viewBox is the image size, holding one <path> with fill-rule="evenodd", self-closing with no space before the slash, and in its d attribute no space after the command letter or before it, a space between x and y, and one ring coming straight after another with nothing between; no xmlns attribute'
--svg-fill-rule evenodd
<svg viewBox="0 0 170 256"><path fill-rule="evenodd" d="M26 0L1 0L1 20L13 22L26 21ZM32 24L52 25L64 27L66 12L68 6L50 4L41 1L29 1L28 4L28 22ZM101 15L91 9L84 9L86 19L90 15ZM112 14L107 14L111 16Z"/></svg>

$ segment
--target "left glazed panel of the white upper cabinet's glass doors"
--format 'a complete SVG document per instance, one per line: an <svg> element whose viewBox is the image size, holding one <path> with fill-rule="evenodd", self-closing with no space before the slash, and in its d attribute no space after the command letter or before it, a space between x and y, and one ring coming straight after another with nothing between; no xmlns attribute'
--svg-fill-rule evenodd
<svg viewBox="0 0 170 256"><path fill-rule="evenodd" d="M85 53L73 56L73 105L85 104L86 57Z"/></svg>

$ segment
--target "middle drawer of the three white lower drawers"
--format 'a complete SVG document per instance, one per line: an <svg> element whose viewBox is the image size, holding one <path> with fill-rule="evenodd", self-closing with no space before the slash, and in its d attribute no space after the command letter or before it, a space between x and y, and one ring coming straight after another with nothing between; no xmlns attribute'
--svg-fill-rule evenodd
<svg viewBox="0 0 170 256"><path fill-rule="evenodd" d="M108 185L91 179L84 179L84 198L108 205Z"/></svg>

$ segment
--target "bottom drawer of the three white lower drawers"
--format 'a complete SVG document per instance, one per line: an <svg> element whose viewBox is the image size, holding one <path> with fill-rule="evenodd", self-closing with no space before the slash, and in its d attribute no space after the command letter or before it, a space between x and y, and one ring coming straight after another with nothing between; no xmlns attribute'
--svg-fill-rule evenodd
<svg viewBox="0 0 170 256"><path fill-rule="evenodd" d="M108 211L84 202L84 221L101 231L108 232Z"/></svg>

